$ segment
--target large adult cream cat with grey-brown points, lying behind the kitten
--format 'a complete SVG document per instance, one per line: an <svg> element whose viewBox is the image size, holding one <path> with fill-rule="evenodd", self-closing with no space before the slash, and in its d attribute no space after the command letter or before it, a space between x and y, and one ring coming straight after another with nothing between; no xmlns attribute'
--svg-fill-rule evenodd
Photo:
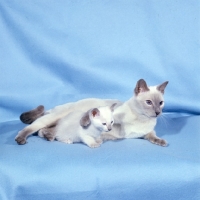
<svg viewBox="0 0 200 200"><path fill-rule="evenodd" d="M124 103L112 99L84 99L56 106L46 112L44 112L43 106L39 106L34 110L22 113L21 121L31 124L19 131L15 140L18 144L25 144L27 136L41 128L50 127L72 111L85 112L91 108L111 106L113 103L117 103L113 112L115 120L113 129L109 133L102 133L102 140L144 138L154 144L167 146L167 142L157 137L154 130L157 117L161 115L164 107L163 95L167 84L168 81L148 87L145 80L140 79L134 89L133 97Z"/></svg>

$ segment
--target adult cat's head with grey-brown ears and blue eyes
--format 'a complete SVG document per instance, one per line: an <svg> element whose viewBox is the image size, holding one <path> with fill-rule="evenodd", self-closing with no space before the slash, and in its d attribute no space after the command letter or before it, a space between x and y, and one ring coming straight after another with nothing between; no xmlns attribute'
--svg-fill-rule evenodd
<svg viewBox="0 0 200 200"><path fill-rule="evenodd" d="M164 90L168 81L148 87L145 80L140 79L135 87L135 100L137 111L147 117L157 117L162 114L164 107Z"/></svg>

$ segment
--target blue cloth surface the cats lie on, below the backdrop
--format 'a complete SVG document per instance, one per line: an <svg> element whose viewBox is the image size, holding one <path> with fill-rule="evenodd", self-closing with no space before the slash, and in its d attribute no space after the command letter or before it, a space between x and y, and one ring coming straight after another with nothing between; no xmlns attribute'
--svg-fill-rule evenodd
<svg viewBox="0 0 200 200"><path fill-rule="evenodd" d="M199 116L159 120L168 147L142 139L83 144L33 135L19 146L19 121L0 124L0 199L199 199ZM193 131L192 131L193 130ZM194 131L195 130L195 131Z"/></svg>

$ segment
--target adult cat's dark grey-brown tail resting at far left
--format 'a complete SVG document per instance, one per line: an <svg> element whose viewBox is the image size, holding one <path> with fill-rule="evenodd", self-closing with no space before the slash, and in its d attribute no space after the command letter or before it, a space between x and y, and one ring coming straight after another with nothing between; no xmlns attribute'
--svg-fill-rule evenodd
<svg viewBox="0 0 200 200"><path fill-rule="evenodd" d="M20 115L20 120L25 124L31 124L36 119L44 115L44 106L40 105L37 108L24 112Z"/></svg>

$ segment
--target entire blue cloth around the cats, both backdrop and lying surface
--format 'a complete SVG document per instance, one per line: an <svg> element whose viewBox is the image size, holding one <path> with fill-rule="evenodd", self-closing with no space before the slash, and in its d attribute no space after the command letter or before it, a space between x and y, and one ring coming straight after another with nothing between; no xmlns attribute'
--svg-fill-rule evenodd
<svg viewBox="0 0 200 200"><path fill-rule="evenodd" d="M199 20L199 0L0 0L0 199L200 199ZM22 112L125 101L140 78L169 81L168 147L14 141Z"/></svg>

